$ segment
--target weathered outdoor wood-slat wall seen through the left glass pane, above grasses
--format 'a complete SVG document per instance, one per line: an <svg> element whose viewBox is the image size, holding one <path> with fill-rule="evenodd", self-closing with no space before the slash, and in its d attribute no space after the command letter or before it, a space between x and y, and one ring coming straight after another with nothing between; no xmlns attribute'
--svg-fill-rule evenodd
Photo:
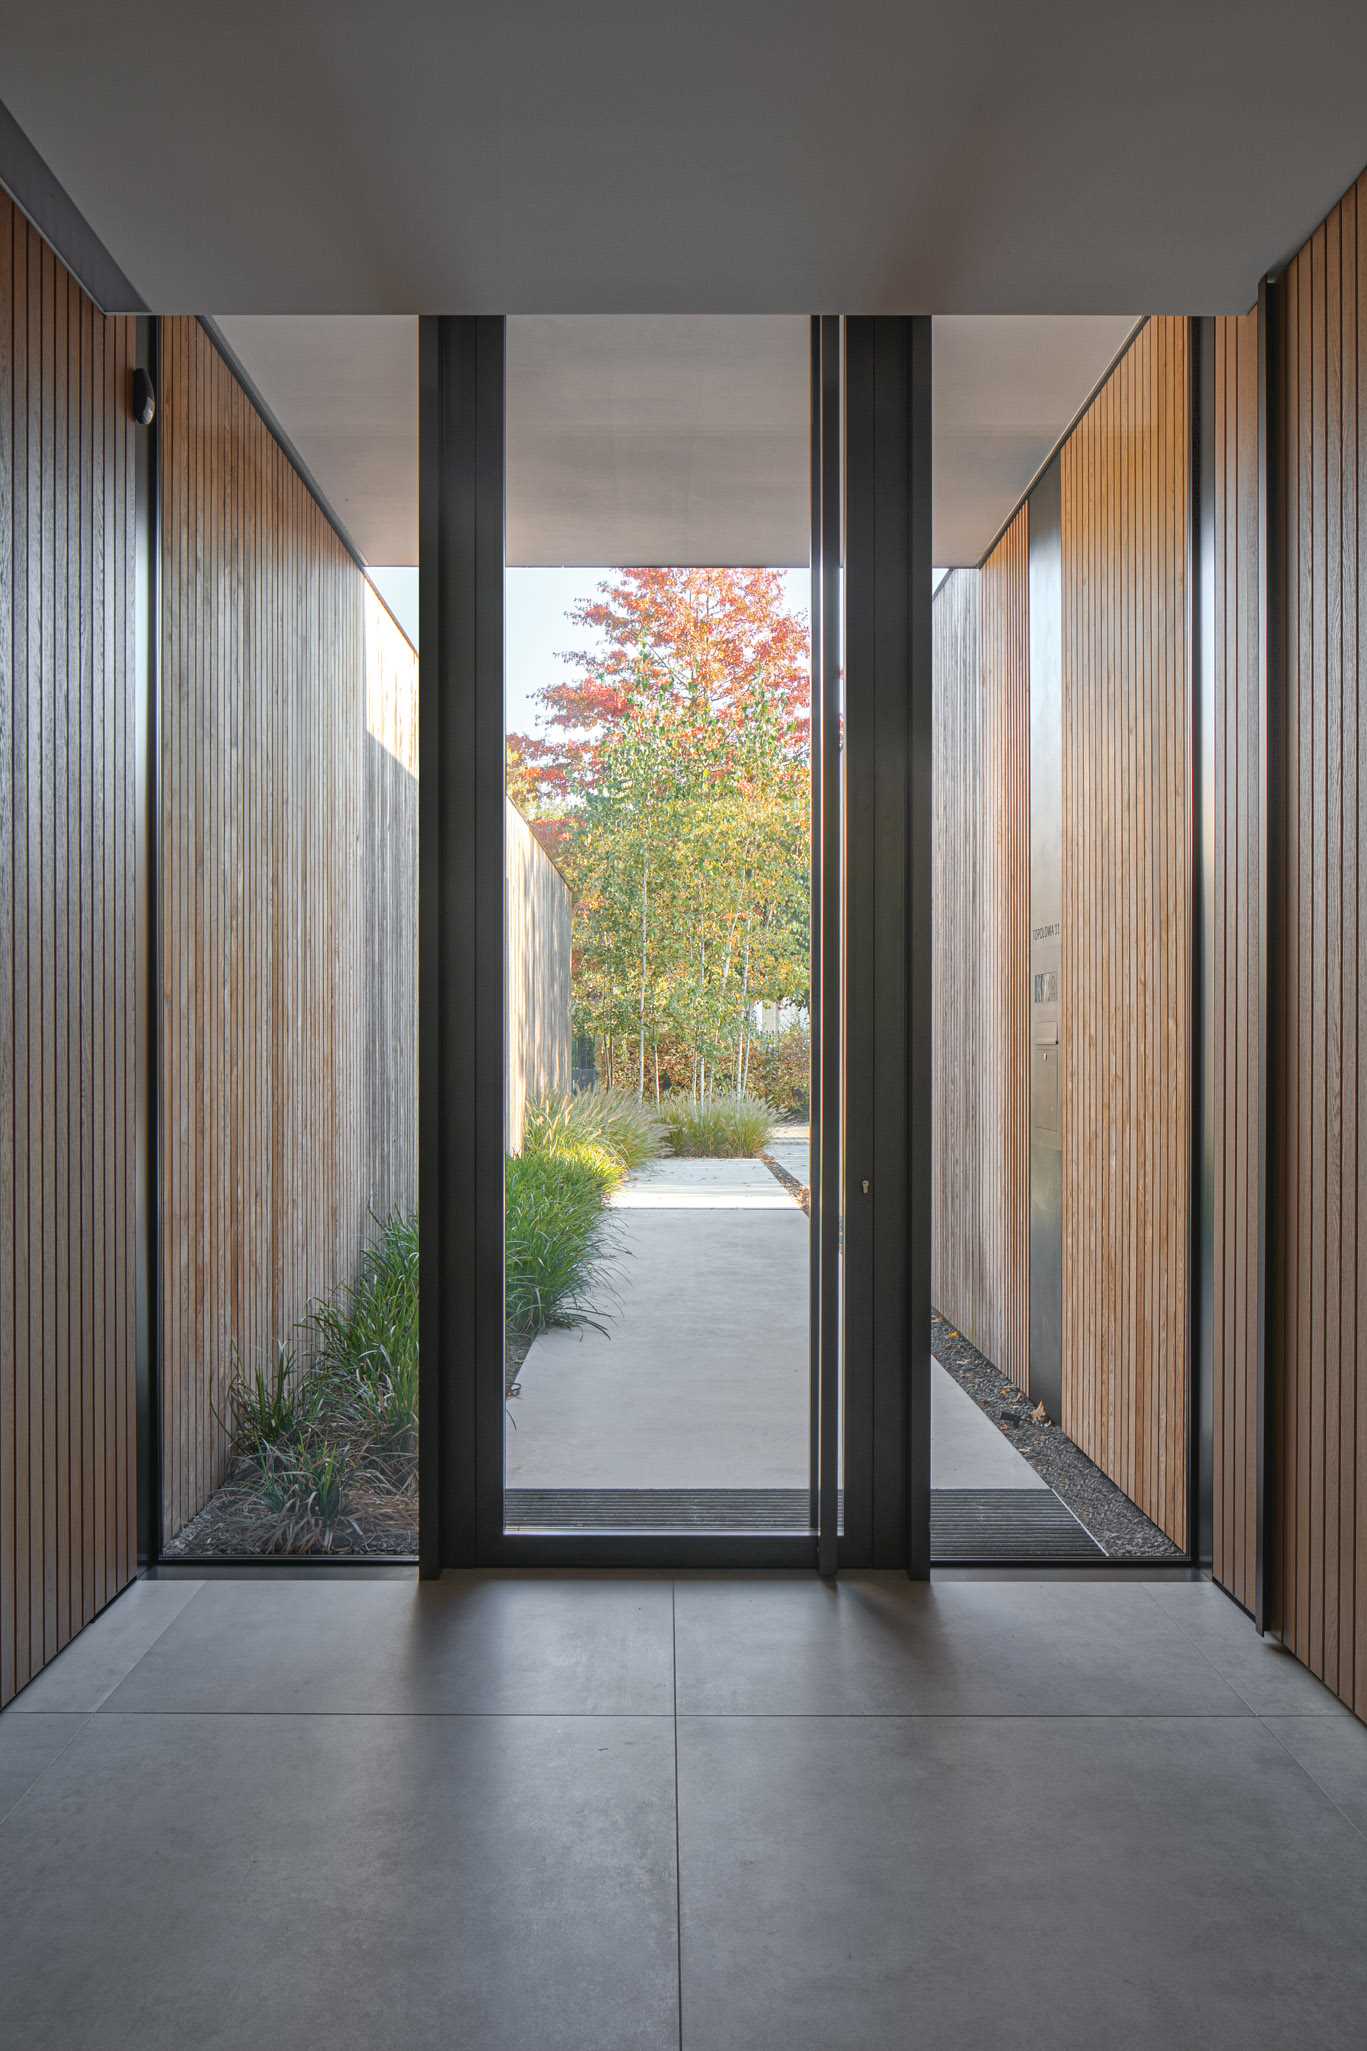
<svg viewBox="0 0 1367 2051"><path fill-rule="evenodd" d="M174 1536L416 1204L416 658L195 320L162 322L162 1436Z"/></svg>

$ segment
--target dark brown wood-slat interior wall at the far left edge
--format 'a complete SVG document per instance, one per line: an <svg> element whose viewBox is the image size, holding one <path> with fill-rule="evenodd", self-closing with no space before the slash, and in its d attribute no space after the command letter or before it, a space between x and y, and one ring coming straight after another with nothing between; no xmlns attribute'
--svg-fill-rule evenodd
<svg viewBox="0 0 1367 2051"><path fill-rule="evenodd" d="M131 363L0 193L0 1702L137 1571Z"/></svg>

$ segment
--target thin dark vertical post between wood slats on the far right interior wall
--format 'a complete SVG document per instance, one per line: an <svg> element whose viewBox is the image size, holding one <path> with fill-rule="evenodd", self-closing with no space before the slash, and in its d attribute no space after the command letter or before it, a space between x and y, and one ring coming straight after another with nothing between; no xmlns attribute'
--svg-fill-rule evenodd
<svg viewBox="0 0 1367 2051"><path fill-rule="evenodd" d="M1258 1514L1254 1622L1277 1616L1277 1397L1281 1259L1273 1206L1281 1179L1277 1007L1283 962L1285 498L1281 279L1258 287Z"/></svg>

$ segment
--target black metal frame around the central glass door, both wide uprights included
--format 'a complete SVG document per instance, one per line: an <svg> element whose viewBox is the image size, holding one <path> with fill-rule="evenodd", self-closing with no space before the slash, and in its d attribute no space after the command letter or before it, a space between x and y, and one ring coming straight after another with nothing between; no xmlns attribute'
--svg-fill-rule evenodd
<svg viewBox="0 0 1367 2051"><path fill-rule="evenodd" d="M844 394L840 394L844 345ZM814 1155L824 1356L844 1341L846 1532L834 1403L820 1411L822 1530L516 1534L502 1528L504 1415L504 347L502 316L420 322L418 1208L420 1571L443 1567L822 1567L928 1571L930 1477L930 324L814 322L814 827L832 851L818 1034L828 1144ZM840 441L846 439L844 464ZM844 507L840 478L844 476ZM838 720L838 552L848 747ZM814 591L818 578L814 576ZM832 718L836 712L836 718ZM844 755L842 835L832 763ZM855 806L861 812L855 812ZM844 1001L832 876L848 849ZM844 1048L842 1048L844 1042ZM840 1069L844 1050L844 1069ZM844 1077L859 1077L855 1093ZM818 1085L820 1089L820 1085ZM834 1095L832 1095L834 1091ZM851 1134L840 1147L840 1105ZM857 1099L857 1101L855 1101ZM816 1103L814 1103L816 1110ZM834 1128L834 1144L830 1134ZM846 1245L832 1198L848 1175ZM820 1194L818 1194L820 1190ZM822 1231L822 1202L826 1229ZM853 1276L844 1302L838 1270Z"/></svg>

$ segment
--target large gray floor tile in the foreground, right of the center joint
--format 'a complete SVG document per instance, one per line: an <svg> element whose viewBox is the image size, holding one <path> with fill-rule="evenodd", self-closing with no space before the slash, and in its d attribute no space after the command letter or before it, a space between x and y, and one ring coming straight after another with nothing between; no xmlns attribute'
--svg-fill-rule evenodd
<svg viewBox="0 0 1367 2051"><path fill-rule="evenodd" d="M1240 1719L680 1719L685 2051L1361 2051L1367 1846Z"/></svg>

